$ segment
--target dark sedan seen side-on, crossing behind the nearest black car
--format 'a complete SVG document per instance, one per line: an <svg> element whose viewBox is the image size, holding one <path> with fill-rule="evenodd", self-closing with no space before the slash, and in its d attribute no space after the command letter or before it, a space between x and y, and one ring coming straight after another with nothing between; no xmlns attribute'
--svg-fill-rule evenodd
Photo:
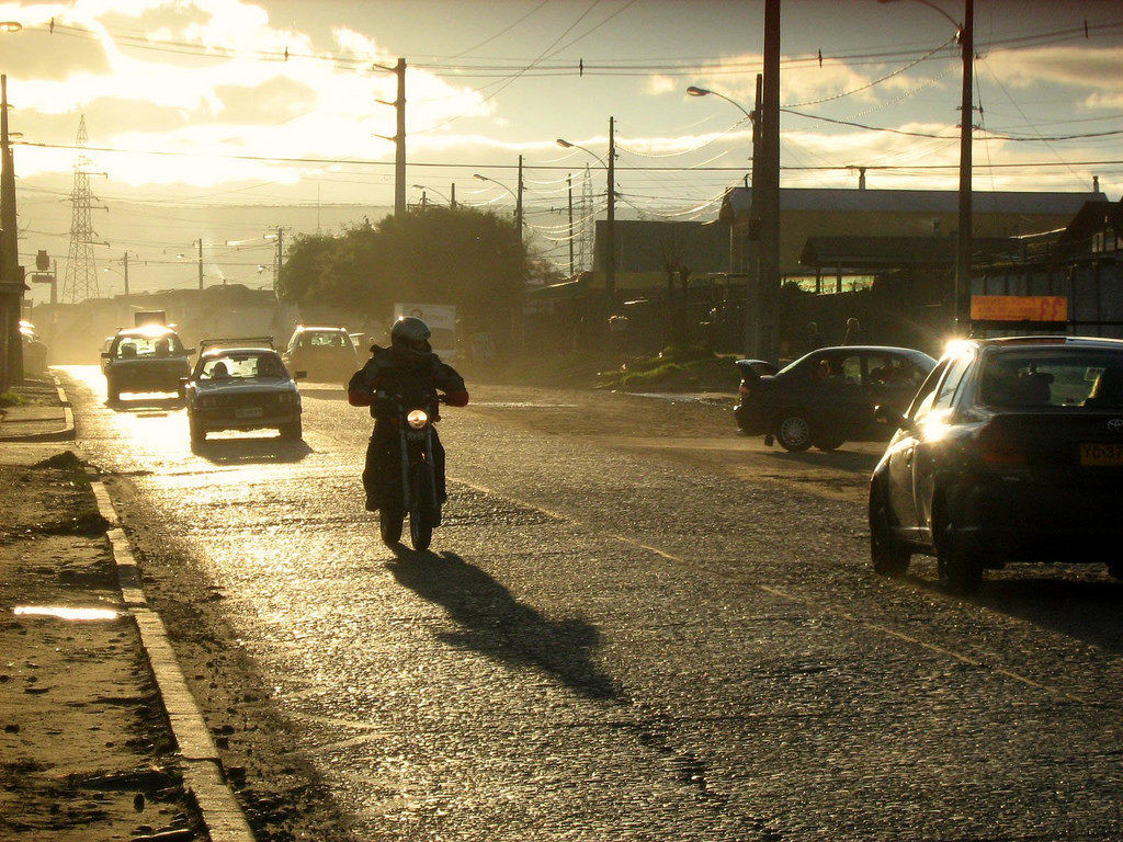
<svg viewBox="0 0 1123 842"><path fill-rule="evenodd" d="M923 351L880 346L820 348L776 373L761 360L739 359L733 414L746 434L764 434L769 445L775 437L787 450L884 439L874 408L904 410L934 366Z"/></svg>

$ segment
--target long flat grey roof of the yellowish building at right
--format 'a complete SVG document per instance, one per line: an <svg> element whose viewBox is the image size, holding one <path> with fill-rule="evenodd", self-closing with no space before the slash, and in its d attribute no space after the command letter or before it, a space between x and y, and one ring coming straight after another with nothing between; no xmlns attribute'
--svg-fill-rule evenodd
<svg viewBox="0 0 1123 842"><path fill-rule="evenodd" d="M1074 216L1085 202L1106 201L1098 192L971 192L976 213L1041 213ZM722 201L721 219L748 213L752 187L733 187ZM859 211L894 213L955 213L955 190L855 190L847 187L780 187L780 210Z"/></svg>

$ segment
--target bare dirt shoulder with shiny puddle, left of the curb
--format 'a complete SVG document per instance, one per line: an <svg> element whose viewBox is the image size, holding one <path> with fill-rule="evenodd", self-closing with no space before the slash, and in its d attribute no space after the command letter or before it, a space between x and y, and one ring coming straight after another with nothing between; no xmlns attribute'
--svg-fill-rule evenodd
<svg viewBox="0 0 1123 842"><path fill-rule="evenodd" d="M49 451L0 464L0 840L207 839L85 466Z"/></svg>

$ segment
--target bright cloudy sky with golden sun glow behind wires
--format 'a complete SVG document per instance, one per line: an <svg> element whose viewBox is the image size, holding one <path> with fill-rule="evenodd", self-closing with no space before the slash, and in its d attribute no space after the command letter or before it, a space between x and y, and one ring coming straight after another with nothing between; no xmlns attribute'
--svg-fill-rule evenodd
<svg viewBox="0 0 1123 842"><path fill-rule="evenodd" d="M937 8L932 8L937 7ZM784 0L783 186L956 187L961 0ZM0 2L21 226L70 191L84 115L100 199L393 203L408 63L410 201L509 208L549 236L615 118L633 213L712 219L746 175L760 0ZM976 0L976 190L1123 194L1123 3ZM474 180L481 174L494 182ZM578 200L582 193L577 185ZM595 208L594 208L595 210ZM541 213L540 218L535 217ZM42 225L40 225L42 228Z"/></svg>

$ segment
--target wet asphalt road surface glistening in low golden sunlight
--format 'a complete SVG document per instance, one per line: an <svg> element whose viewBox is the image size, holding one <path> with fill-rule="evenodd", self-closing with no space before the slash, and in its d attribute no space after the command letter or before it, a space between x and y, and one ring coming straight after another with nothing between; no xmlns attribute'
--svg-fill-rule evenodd
<svg viewBox="0 0 1123 842"><path fill-rule="evenodd" d="M795 459L722 440L718 410L475 390L412 553L362 509L341 392L302 390L304 445L195 455L182 410L67 373L91 460L145 501L130 527L226 595L360 839L1120 836L1123 586L875 577L876 447Z"/></svg>

